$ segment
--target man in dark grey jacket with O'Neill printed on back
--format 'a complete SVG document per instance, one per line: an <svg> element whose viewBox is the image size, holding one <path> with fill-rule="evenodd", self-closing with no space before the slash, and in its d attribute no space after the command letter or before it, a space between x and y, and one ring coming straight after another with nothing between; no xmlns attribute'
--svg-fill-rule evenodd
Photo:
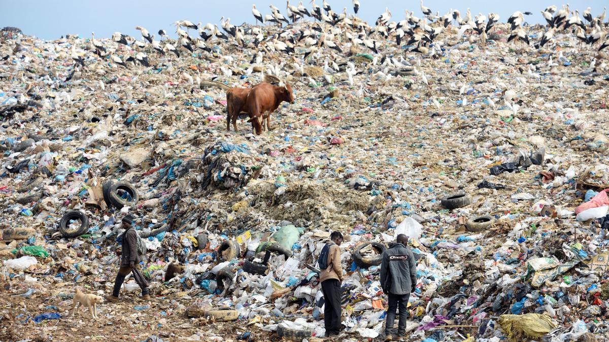
<svg viewBox="0 0 609 342"><path fill-rule="evenodd" d="M417 287L417 263L410 248L407 247L408 237L399 234L396 243L393 243L382 255L381 287L389 297L387 321L385 322L385 341L393 341L393 322L395 310L400 310L397 338L404 337L406 333L406 319L408 318L408 299L410 293Z"/></svg>

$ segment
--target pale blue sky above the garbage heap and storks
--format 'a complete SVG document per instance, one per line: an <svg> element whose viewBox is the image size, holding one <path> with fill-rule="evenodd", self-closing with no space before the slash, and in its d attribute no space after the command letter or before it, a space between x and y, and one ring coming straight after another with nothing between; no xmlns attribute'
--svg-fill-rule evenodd
<svg viewBox="0 0 609 342"><path fill-rule="evenodd" d="M315 2L322 5L322 0ZM357 15L370 24L373 24L384 12L385 7L388 7L392 13L393 21L404 19L406 9L414 11L415 16L422 16L420 2L417 0L359 0L359 2L361 7ZM311 9L309 0L303 3L305 7ZM568 3L572 10L579 9L580 15L586 7L591 7L593 16L599 15L604 6L609 6L607 0L571 0ZM146 27L153 34L159 29L165 29L171 37L175 37L175 27L172 23L181 19L188 19L195 24L199 22L219 24L220 18L225 16L230 17L230 23L234 25L244 22L254 23L252 4L256 4L262 15L270 13L269 4L275 4L281 13L286 14L286 3L283 0L20 0L2 1L0 26L19 27L27 35L46 40L54 40L67 33L91 37L91 32L95 32L96 38L109 38L116 31L139 39L141 35L135 30L135 26L138 25ZM290 4L298 5L298 1L292 0ZM328 0L328 4L336 13L342 12L343 7L347 7L347 13L353 13L351 0ZM532 24L544 23L540 11L547 6L562 5L559 2L531 0L424 1L426 7L434 13L440 12L440 15L448 12L456 4L459 4L458 9L462 16L465 15L466 9L470 8L472 16L478 13L484 15L488 15L489 12L498 13L502 22L517 10L530 11L533 15L526 19Z"/></svg>

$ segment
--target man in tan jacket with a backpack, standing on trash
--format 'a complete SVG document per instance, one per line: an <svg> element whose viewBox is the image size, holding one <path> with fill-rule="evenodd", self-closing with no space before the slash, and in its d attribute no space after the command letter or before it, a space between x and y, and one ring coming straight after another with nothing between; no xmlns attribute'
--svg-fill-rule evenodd
<svg viewBox="0 0 609 342"><path fill-rule="evenodd" d="M340 323L341 316L341 291L340 284L342 283L342 265L340 264L340 243L343 236L340 232L332 232L330 234L331 242L326 243L324 248L328 248L327 259L323 260L327 266L321 270L319 281L322 283L322 291L324 298L323 323L326 327L326 337L336 338L342 330ZM322 250L323 254L323 250Z"/></svg>

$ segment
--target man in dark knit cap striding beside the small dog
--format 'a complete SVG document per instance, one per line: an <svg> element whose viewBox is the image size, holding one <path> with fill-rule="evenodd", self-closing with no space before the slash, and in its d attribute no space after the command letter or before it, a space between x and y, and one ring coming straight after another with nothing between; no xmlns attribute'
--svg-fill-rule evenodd
<svg viewBox="0 0 609 342"><path fill-rule="evenodd" d="M125 231L121 234L121 268L119 268L118 274L116 274L112 295L105 296L105 299L110 302L118 302L122 282L125 281L125 277L127 274L129 274L129 272L133 273L133 279L135 279L135 282L137 282L139 287L142 289L141 298L145 301L150 299L150 295L148 294L148 281L146 278L144 278L144 276L142 276L141 273L139 273L138 269L142 258L138 254L137 239L139 239L139 237L132 225L132 215L127 215L122 219L122 228L124 228Z"/></svg>

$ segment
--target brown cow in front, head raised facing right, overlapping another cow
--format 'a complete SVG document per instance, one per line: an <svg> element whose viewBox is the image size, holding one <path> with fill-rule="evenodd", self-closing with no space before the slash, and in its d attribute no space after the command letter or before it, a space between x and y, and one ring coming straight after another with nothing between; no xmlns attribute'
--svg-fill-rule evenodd
<svg viewBox="0 0 609 342"><path fill-rule="evenodd" d="M245 111L250 114L250 120L256 134L262 133L264 119L267 130L270 130L270 114L275 111L281 102L294 103L292 86L273 86L263 82L250 90L245 103Z"/></svg>

